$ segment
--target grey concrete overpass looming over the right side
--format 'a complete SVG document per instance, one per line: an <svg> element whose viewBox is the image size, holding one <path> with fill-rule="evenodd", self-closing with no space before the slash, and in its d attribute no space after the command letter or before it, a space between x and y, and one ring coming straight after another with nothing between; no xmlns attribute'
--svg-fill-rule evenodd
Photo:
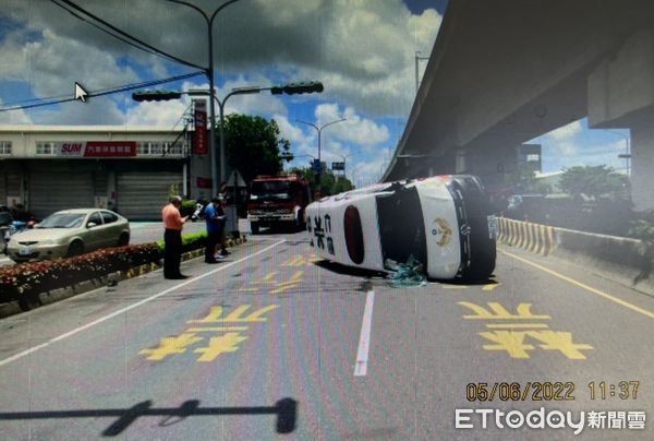
<svg viewBox="0 0 654 441"><path fill-rule="evenodd" d="M473 172L589 117L631 129L633 202L654 208L654 1L451 0L384 180Z"/></svg>

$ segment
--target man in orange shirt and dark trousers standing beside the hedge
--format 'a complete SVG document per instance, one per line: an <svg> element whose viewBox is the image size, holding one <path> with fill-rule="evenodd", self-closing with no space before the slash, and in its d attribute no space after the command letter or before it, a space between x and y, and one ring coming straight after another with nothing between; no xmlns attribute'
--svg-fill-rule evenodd
<svg viewBox="0 0 654 441"><path fill-rule="evenodd" d="M164 277L172 279L187 278L180 272L180 263L182 260L182 228L189 216L182 217L180 214L182 206L182 198L174 196L170 203L161 210L161 218L164 221L164 242L166 249L164 251Z"/></svg>

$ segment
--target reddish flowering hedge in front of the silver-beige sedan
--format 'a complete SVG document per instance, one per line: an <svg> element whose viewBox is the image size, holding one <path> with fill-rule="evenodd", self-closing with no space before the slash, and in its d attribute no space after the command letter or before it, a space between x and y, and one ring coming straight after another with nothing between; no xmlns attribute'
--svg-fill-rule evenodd
<svg viewBox="0 0 654 441"><path fill-rule="evenodd" d="M160 259L155 243L106 248L73 258L0 267L0 302L98 278Z"/></svg>

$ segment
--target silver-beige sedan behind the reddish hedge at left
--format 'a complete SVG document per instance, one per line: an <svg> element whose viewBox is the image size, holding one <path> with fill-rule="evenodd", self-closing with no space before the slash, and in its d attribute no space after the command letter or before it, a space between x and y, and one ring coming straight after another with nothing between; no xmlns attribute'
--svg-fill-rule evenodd
<svg viewBox="0 0 654 441"><path fill-rule="evenodd" d="M14 262L82 254L130 242L128 219L109 210L57 212L40 224L10 237L8 255Z"/></svg>

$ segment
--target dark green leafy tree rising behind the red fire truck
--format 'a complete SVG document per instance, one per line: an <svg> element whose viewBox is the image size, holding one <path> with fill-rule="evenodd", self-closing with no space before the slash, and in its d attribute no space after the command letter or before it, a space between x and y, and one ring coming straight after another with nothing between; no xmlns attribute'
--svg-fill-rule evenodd
<svg viewBox="0 0 654 441"><path fill-rule="evenodd" d="M257 175L278 175L282 156L290 148L289 141L279 138L274 119L239 114L226 117L225 145L229 166L238 169L246 182Z"/></svg>

